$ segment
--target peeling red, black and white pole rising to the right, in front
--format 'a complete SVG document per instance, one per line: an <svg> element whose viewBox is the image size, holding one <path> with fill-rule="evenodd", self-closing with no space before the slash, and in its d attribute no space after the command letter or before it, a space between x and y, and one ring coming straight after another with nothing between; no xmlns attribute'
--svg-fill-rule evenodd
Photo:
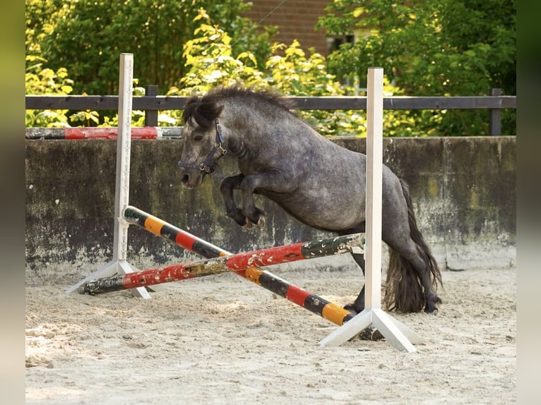
<svg viewBox="0 0 541 405"><path fill-rule="evenodd" d="M253 250L199 262L157 267L143 272L121 274L87 282L83 284L81 293L101 294L122 289L135 289L227 271L235 272L247 278L246 272L249 272L251 267L266 267L297 260L352 253L355 248L362 246L362 243L362 234L352 234L319 241Z"/></svg>

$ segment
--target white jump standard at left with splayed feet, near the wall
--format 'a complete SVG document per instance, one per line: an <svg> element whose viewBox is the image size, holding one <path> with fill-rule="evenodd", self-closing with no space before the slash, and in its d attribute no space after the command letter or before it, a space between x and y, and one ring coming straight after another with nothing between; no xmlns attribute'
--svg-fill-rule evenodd
<svg viewBox="0 0 541 405"><path fill-rule="evenodd" d="M113 258L99 270L67 289L66 294L75 291L85 282L97 277L110 277L113 274L127 274L138 271L126 261L129 224L121 216L124 207L129 204L133 54L120 54L119 71L119 128L117 138L117 179L114 191ZM131 292L134 296L150 298L150 294L148 294L145 287L132 289Z"/></svg>

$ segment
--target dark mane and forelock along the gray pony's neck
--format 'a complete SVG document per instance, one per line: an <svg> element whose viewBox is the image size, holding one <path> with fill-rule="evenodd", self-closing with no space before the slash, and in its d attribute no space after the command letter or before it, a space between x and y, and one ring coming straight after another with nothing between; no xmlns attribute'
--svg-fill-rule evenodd
<svg viewBox="0 0 541 405"><path fill-rule="evenodd" d="M214 125L215 119L220 116L223 106L219 105L220 100L226 98L241 98L249 102L266 102L285 111L291 112L292 102L287 100L275 90L254 90L253 87L216 87L210 90L203 97L194 96L186 101L182 114L182 123L194 120L199 126L209 128Z"/></svg>

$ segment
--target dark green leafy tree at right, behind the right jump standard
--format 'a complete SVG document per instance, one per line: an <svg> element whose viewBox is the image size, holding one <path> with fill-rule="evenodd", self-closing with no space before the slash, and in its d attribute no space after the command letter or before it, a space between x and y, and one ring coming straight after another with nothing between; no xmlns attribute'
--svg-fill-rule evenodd
<svg viewBox="0 0 541 405"><path fill-rule="evenodd" d="M516 8L512 0L335 0L318 27L331 35L355 33L328 58L331 73L366 83L367 68L382 66L405 95L487 95L499 87L516 94ZM421 128L442 135L484 135L487 111L410 111ZM514 113L504 128L515 133ZM429 118L429 119L427 119Z"/></svg>

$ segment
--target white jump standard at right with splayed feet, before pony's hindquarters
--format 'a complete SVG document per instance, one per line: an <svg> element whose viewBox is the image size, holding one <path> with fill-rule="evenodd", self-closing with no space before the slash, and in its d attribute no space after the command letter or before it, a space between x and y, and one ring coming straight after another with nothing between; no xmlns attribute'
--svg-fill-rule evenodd
<svg viewBox="0 0 541 405"><path fill-rule="evenodd" d="M416 351L408 337L422 338L381 310L381 205L383 182L384 69L368 68L367 83L367 243L364 310L321 340L321 346L340 346L374 325L400 351ZM406 336L408 334L408 336Z"/></svg>

